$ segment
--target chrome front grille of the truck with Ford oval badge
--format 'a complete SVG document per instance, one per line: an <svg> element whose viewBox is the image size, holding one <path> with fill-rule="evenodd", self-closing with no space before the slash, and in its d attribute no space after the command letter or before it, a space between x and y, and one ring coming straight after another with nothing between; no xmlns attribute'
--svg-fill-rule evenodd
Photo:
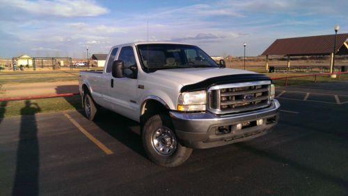
<svg viewBox="0 0 348 196"><path fill-rule="evenodd" d="M208 108L215 114L228 114L267 107L270 84L270 81L258 81L211 87Z"/></svg>

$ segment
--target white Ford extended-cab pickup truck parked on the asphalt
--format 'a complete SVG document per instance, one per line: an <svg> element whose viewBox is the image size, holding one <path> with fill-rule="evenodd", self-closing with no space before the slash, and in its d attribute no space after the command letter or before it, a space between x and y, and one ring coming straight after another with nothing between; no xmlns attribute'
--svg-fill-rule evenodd
<svg viewBox="0 0 348 196"><path fill-rule="evenodd" d="M189 44L113 46L104 71L81 71L86 117L100 107L141 125L148 157L160 166L186 161L193 148L214 148L269 132L280 104L265 75L228 69Z"/></svg>

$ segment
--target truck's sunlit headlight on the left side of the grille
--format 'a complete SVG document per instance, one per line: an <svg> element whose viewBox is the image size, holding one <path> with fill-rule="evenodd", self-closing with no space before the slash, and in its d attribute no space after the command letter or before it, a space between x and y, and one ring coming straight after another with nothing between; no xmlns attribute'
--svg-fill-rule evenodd
<svg viewBox="0 0 348 196"><path fill-rule="evenodd" d="M204 111L207 104L206 91L180 93L177 99L178 111Z"/></svg>

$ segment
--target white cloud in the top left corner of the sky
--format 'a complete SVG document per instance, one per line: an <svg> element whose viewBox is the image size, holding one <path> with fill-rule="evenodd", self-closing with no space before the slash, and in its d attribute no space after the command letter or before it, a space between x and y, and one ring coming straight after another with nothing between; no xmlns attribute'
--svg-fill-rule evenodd
<svg viewBox="0 0 348 196"><path fill-rule="evenodd" d="M2 0L2 6L18 8L35 15L58 17L92 17L109 12L106 8L90 0Z"/></svg>

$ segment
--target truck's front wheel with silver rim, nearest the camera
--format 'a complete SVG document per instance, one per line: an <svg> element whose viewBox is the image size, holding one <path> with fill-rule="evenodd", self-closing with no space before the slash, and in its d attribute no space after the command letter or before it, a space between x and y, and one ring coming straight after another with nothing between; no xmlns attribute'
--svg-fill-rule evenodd
<svg viewBox="0 0 348 196"><path fill-rule="evenodd" d="M173 168L189 159L192 149L177 142L171 118L157 114L146 121L142 140L146 154L159 166Z"/></svg>

